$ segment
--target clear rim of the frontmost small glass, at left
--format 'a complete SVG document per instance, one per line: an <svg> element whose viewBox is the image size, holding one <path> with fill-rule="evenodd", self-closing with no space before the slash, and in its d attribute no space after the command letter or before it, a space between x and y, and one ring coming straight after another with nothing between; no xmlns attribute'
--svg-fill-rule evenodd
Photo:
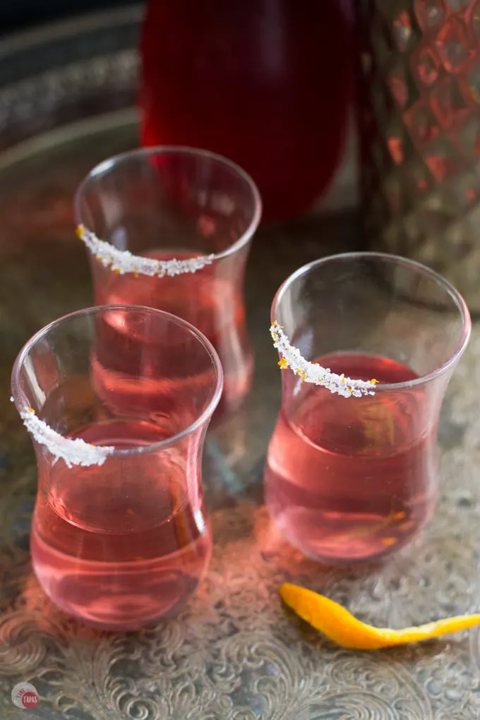
<svg viewBox="0 0 480 720"><path fill-rule="evenodd" d="M24 361L27 358L28 354L32 350L32 348L41 340L47 337L48 333L50 333L54 328L58 328L60 325L63 325L65 322L69 322L70 320L75 320L76 318L86 317L87 315L100 315L105 312L112 312L112 310L121 310L122 312L131 312L135 311L142 312L144 315L160 315L164 319L171 321L175 323L176 325L180 325L185 330L189 330L191 335L194 335L196 339L199 341L199 343L204 347L204 349L207 351L207 354L209 354L210 359L212 360L212 366L215 369L216 374L216 382L214 390L212 391L212 397L209 400L209 403L207 405L207 408L202 410L198 418L196 418L193 423L190 423L189 426L181 430L180 432L176 433L175 435L171 436L170 438L165 438L164 440L160 440L157 443L152 443L149 445L142 445L140 447L136 448L127 448L127 449L120 449L115 448L114 451L109 455L109 457L112 456L131 456L131 455L140 455L140 454L146 454L148 452L154 452L158 450L162 450L164 448L168 448L170 446L175 445L179 440L191 435L191 433L194 433L196 430L201 428L207 421L212 418L212 415L214 413L215 408L217 408L217 405L219 403L220 397L222 396L223 391L223 367L222 362L219 359L219 355L217 351L215 350L212 343L209 341L208 338L204 336L201 331L196 328L194 325L191 325L191 323L188 323L183 318L178 318L177 315L172 315L171 312L166 312L165 310L157 310L154 307L147 307L145 305L119 305L119 304L113 304L113 305L94 305L92 307L85 307L81 310L75 310L74 312L69 312L68 315L63 315L61 318L57 318L56 320L53 320L51 323L48 323L45 325L45 327L41 328L40 330L37 330L37 332L32 335L30 340L28 340L26 343L24 343L24 346L21 348L19 353L17 354L17 357L14 361L14 365L12 368L12 378L11 378L11 389L12 389L12 398L14 400L14 405L17 408L17 411L23 412L24 410L28 410L30 407L30 403L27 401L24 393L22 390L20 390L20 372L22 371L22 368L24 367ZM68 436L63 435L63 433L60 433L58 431L55 431L58 433L58 435L65 439L72 439L68 438ZM101 445L99 445L99 448L101 448Z"/></svg>

